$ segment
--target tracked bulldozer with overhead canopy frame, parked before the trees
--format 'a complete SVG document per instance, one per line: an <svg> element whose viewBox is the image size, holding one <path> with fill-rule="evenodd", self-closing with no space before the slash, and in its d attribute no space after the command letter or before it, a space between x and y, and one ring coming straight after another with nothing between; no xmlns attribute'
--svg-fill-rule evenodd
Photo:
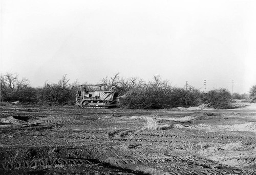
<svg viewBox="0 0 256 175"><path fill-rule="evenodd" d="M100 90L88 91L89 86L98 86ZM81 108L115 108L118 106L116 87L109 91L102 91L106 84L78 85L76 92L76 105Z"/></svg>

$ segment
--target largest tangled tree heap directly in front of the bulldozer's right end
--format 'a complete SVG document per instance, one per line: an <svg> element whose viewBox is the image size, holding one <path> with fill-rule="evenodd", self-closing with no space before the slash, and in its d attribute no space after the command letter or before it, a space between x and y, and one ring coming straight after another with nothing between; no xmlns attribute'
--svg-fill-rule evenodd
<svg viewBox="0 0 256 175"><path fill-rule="evenodd" d="M202 93L195 87L176 88L154 76L152 82L131 88L120 99L120 107L127 109L164 109L171 106L196 106Z"/></svg>

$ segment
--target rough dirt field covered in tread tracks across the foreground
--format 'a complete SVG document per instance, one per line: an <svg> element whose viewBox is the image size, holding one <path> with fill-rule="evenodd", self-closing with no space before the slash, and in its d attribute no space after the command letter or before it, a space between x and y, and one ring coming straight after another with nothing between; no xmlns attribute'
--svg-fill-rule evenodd
<svg viewBox="0 0 256 175"><path fill-rule="evenodd" d="M2 104L0 174L256 174L256 105L240 105L122 110Z"/></svg>

